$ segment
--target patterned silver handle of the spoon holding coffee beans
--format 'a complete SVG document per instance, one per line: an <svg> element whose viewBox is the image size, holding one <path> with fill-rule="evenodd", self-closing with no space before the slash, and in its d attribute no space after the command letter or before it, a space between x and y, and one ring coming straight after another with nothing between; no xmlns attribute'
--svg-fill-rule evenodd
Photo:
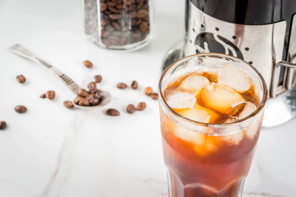
<svg viewBox="0 0 296 197"><path fill-rule="evenodd" d="M36 55L34 55L28 49L24 48L23 46L21 46L19 44L16 44L16 45L10 47L9 51L11 51L12 53L15 53L19 56L22 56L24 58L28 58L30 60L33 60L37 64L45 66L46 69L51 71L52 74L54 74L54 76L56 76L60 80L62 80L75 94L77 94L79 86L72 79L70 79L68 76L63 74L61 71L59 71L54 66L48 64L46 61L42 60L41 58L38 58Z"/></svg>

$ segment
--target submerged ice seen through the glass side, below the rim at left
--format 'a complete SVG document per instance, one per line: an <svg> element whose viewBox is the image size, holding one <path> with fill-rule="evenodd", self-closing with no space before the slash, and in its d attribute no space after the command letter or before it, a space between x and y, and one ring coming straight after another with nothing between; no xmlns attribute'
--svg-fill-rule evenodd
<svg viewBox="0 0 296 197"><path fill-rule="evenodd" d="M206 135L198 132L186 129L181 126L176 126L174 128L174 134L178 138L193 143L195 145L202 145L205 143Z"/></svg>

